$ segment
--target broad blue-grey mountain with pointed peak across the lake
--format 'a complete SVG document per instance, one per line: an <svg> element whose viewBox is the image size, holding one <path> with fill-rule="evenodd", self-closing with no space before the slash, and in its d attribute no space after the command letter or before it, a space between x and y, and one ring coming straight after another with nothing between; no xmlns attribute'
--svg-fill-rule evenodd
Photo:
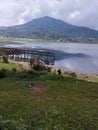
<svg viewBox="0 0 98 130"><path fill-rule="evenodd" d="M48 16L34 19L22 25L0 27L0 36L71 42L98 41L97 30L74 26Z"/></svg>

